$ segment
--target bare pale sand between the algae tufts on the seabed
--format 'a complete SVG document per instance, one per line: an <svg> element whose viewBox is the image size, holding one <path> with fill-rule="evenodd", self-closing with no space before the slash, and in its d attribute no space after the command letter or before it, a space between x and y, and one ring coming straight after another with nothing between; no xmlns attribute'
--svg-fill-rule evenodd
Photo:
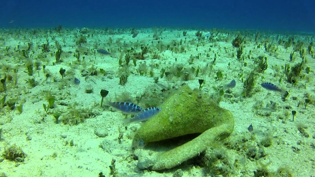
<svg viewBox="0 0 315 177"><path fill-rule="evenodd" d="M250 161L243 153L236 151L234 149L227 150L229 155L230 163L233 164L235 159L238 159L241 165L236 168L235 176L253 176L257 168L260 167L260 163L269 164L267 167L270 171L277 171L278 168L286 167L289 168L294 176L311 176L315 174L315 155L314 155L314 137L315 137L315 109L314 109L314 72L315 62L310 54L306 54L307 63L306 66L311 68L311 72L306 74L305 70L302 74L306 77L299 81L295 86L287 83L286 76L282 77L282 82L279 84L278 79L281 74L284 73L284 66L286 63L301 62L300 54L295 54L295 60L289 61L289 55L292 51L292 47L284 49L283 45L278 45L278 51L269 54L265 52L264 43L262 43L261 48L257 49L255 44L255 32L252 32L252 37L245 38L246 44L244 45L243 55L245 57L245 62L247 66L243 66L243 62L236 59L236 48L232 46L232 40L235 38L235 32L230 33L219 33L215 38L219 42L212 42L209 40L204 40L204 45L199 44L198 51L196 51L196 45L198 44L197 37L195 33L197 31L187 31L187 36L183 37L182 31L171 30L171 29L155 29L162 31L159 40L153 40L154 30L152 29L141 29L137 30L139 32L138 36L132 38L132 34L128 29L123 31L123 34L109 34L104 30L97 29L97 31L90 30L89 34L95 34L87 37L87 43L82 44L83 47L87 47L89 50L95 51L95 43L98 42L97 37L100 39L100 46L98 49L112 49L117 50L119 46L123 46L126 42L127 49L133 47L135 43L148 44L150 50L158 52L160 59L154 59L153 61L158 63L161 61L158 69L153 69L154 77L160 76L160 70L166 68L175 63L175 58L177 58L177 63L183 63L184 67L203 68L207 63L211 65L213 63L213 58L215 53L217 54L217 59L215 65L213 65L213 71L202 74L199 72L199 76L193 76L189 81L183 81L182 79L170 79L167 80L164 76L162 79L159 78L159 82L165 85L171 85L179 87L180 84L186 83L191 88L198 88L198 79L204 79L205 83L203 85L203 91L207 91L209 95L214 95L217 98L218 91L212 87L219 87L220 85L229 83L232 79L236 80L236 87L231 89L232 98L224 97L220 102L220 106L230 110L235 118L235 130L234 133L227 141L237 141L241 139L247 139L249 142L243 142L244 145L239 145L240 147L246 149L249 144L258 148L257 144L261 142L268 134L273 137L272 145L269 147L263 147L266 157ZM10 30L9 30L10 31ZM20 49L27 48L27 42L32 42L31 51L34 51L30 57L32 60L37 59L37 56L42 53L41 45L46 43L46 32L37 32L37 35L32 34L32 31L21 30L20 37L16 37L16 31L13 31L13 35L9 35L8 31L1 31L1 36L3 40L1 43L1 54L0 54L0 66L10 65L12 67L18 68L18 79L17 87L13 87L13 81L7 81L7 97L6 100L17 99L17 104L23 103L23 111L21 114L14 109L10 110L9 106L1 108L0 114L0 128L3 128L2 140L0 141L0 152L3 153L4 147L12 144L20 146L22 150L27 154L25 161L22 163L10 161L4 159L0 163L0 173L5 173L7 176L97 176L100 172L103 172L105 176L110 175L110 168L112 159L116 159L115 167L118 172L118 176L172 176L172 174L178 169L183 170L184 176L203 176L204 169L198 165L187 165L174 168L171 170L165 170L164 172L154 172L149 170L139 170L137 169L137 160L133 159L133 152L130 150L130 145L132 141L133 132L130 131L130 127L139 128L141 123L132 123L128 126L128 130L123 127L123 114L118 111L109 111L108 108L100 108L100 89L106 89L109 91L109 96L114 100L115 94L120 95L121 93L127 91L131 96L141 96L148 87L154 86L155 83L153 78L150 77L149 71L151 67L149 66L152 57L146 54L146 64L148 65L148 73L145 76L139 76L136 69L140 65L140 60L137 60L137 66L133 66L133 61L129 63L130 71L127 83L122 86L119 85L118 77L118 57L119 53L112 52L110 55L98 54L81 54L81 65L78 65L74 69L75 77L77 77L81 83L76 86L72 83L73 77L69 78L67 75L63 82L70 83L66 86L61 87L62 79L59 73L60 68L69 71L73 65L72 62L77 59L73 56L77 45L75 41L77 38L74 34L80 35L78 30L62 30L61 35L58 32L53 32L49 34L49 49L50 52L46 53L47 58L42 61L41 65L46 65L46 69L49 70L51 77L46 82L45 74L43 70L40 70L40 76L38 77L37 71L34 71L33 76L28 76L27 71L24 66L25 58L19 54L19 49L17 45L20 45ZM203 31L203 35L206 31ZM25 36L25 37L24 37ZM66 47L63 47L64 54L61 56L63 62L52 65L55 62L54 53L56 51L54 40L51 36L56 36L55 40L59 41L63 47L62 38L65 38ZM96 37L97 36L97 37ZM272 37L276 35L269 35L270 37L263 36L261 41L269 40L272 42ZM283 37L280 35L280 37ZM112 38L113 43L107 44L109 38ZM165 50L159 52L158 49L152 47L156 46L158 41L163 42L165 45L170 45L172 47L172 41L175 40L177 45L179 45L182 39L183 45L186 50L185 53L175 53L170 50ZM251 38L251 41L248 39ZM307 37L302 35L296 36L296 41L298 39L305 41ZM120 41L117 41L120 39ZM117 43L116 43L117 41ZM189 42L194 41L194 42ZM277 40L275 40L277 41ZM308 44L308 41L305 41ZM9 52L6 51L5 47L10 46ZM212 46L212 47L210 47ZM307 50L307 46L303 46ZM14 51L15 48L15 51ZM211 51L209 51L211 48ZM180 49L180 47L179 47ZM249 51L252 50L251 58L248 59L247 55ZM136 48L137 52L140 52L140 46ZM72 52L72 54L65 55L65 53ZM32 52L31 52L32 53ZM50 55L53 54L53 56ZM92 53L92 52L91 52ZM192 65L188 64L189 56L193 56L201 53L200 59L195 59ZM206 57L209 53L210 57ZM154 54L154 52L153 52ZM234 54L234 57L233 57ZM82 56L85 57L84 62ZM246 79L249 72L254 68L254 58L258 56L266 56L268 58L268 69L262 74L259 74L256 80L254 90L257 92L250 98L241 97L243 90L242 79ZM124 62L124 57L123 57ZM230 69L227 69L228 63L231 63ZM85 63L85 64L83 64ZM280 68L277 77L274 77L274 71L272 66L278 65ZM103 76L98 74L97 76L89 76L87 78L82 77L80 71L83 67L90 68L94 66L96 68L102 68L109 75ZM35 69L35 66L34 66ZM223 72L223 79L221 81L215 81L216 72L220 70ZM4 71L0 73L1 78L4 78ZM12 70L9 71L12 74ZM210 74L209 74L210 73ZM7 73L6 73L7 74ZM238 78L239 74L243 74L243 77ZM110 78L112 76L113 78ZM27 83L29 78L35 78L38 85L34 88ZM54 79L55 82L54 82ZM93 82L93 81L95 82ZM281 94L278 92L270 92L261 88L260 83L271 82L278 85L280 88L284 88L289 91L289 96L286 101L281 100ZM93 87L93 93L85 93L86 86L90 85ZM0 85L2 88L2 85ZM59 89L59 88L62 89ZM156 86L157 89L160 89ZM1 90L1 89L0 89ZM55 119L52 115L45 116L45 111L43 110L43 104L48 104L46 100L46 93L50 92L56 97L55 108L64 111L60 116L60 123L56 124ZM309 96L306 96L309 94ZM0 93L0 99L3 97L4 92ZM227 95L227 94L225 94ZM108 96L108 97L109 97ZM293 100L292 97L297 97L297 100ZM304 109L304 100L309 98L312 103L308 104L307 108ZM261 110L256 110L254 108L256 105L258 108L266 107L266 104L273 101L276 103L276 111L271 112L269 116L264 116L268 112ZM298 102L301 101L301 106L297 108ZM74 103L77 103L77 109L92 108L98 115L96 117L88 118L84 123L79 123L78 125L67 125L62 123L62 119L65 118L66 112L71 109ZM61 104L61 105L60 105ZM63 106L68 105L68 106ZM290 107L286 109L285 107ZM297 111L295 121L292 122L291 111ZM52 111L52 110L50 110ZM287 114L287 116L284 116ZM284 119L278 119L278 117L284 117ZM44 118L44 121L42 120ZM254 131L252 132L255 136L255 140L250 140L250 133L247 128L250 124L253 124ZM309 137L303 136L298 128L297 124L303 124ZM108 135L104 138L95 135L96 129L105 129L108 131ZM123 138L121 143L118 142L119 130L123 133ZM27 134L27 135L26 135ZM62 138L60 135L66 135L66 138ZM27 140L27 136L31 140ZM70 146L66 142L73 140L74 146ZM100 147L102 142L108 142L106 150ZM242 142L242 141L240 141ZM261 146L261 145L260 145ZM294 148L298 148L298 152L294 152ZM158 147L157 147L158 148ZM243 149L243 151L245 151ZM148 151L146 149L136 150L136 151ZM241 150L242 151L242 150ZM56 157L53 157L53 154Z"/></svg>

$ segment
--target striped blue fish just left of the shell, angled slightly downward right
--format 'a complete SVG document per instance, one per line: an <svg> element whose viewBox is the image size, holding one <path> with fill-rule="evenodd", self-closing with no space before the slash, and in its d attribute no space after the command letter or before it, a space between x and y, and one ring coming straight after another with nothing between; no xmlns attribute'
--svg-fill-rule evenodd
<svg viewBox="0 0 315 177"><path fill-rule="evenodd" d="M107 105L125 114L137 114L143 110L140 106L128 102L108 102Z"/></svg>

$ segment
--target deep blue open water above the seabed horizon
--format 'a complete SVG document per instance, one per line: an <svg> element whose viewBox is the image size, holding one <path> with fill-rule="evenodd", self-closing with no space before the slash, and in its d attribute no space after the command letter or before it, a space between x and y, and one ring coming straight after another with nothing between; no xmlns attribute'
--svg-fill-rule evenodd
<svg viewBox="0 0 315 177"><path fill-rule="evenodd" d="M0 27L162 26L314 32L314 7L314 0L7 0L0 2Z"/></svg>

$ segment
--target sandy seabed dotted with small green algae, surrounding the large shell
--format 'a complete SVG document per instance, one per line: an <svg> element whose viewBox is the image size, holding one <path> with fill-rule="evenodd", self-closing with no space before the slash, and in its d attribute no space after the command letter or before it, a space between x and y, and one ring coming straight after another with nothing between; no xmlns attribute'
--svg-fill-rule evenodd
<svg viewBox="0 0 315 177"><path fill-rule="evenodd" d="M199 32L198 37L197 30L169 28L0 30L0 77L5 79L0 85L0 153L6 154L14 144L25 153L14 159L3 155L0 176L98 176L100 172L105 176L224 176L221 172L226 170L228 176L261 176L264 170L269 176L281 170L283 176L314 176L315 59L310 44L314 34ZM134 33L138 35L132 37ZM243 42L235 47L233 40L238 36ZM142 55L145 47L148 51ZM243 53L238 59L239 49ZM265 57L268 67L261 70L259 63ZM294 81L288 79L285 65L301 62L299 75ZM63 78L61 68L66 70ZM252 71L253 88L244 93ZM80 83L75 84L74 78ZM100 90L108 90L106 98L112 101L132 101L146 108L142 96L148 90L164 89L155 83L157 78L174 90L182 84L199 88L198 79L203 79L201 91L232 112L233 134L221 147L212 147L226 155L229 169L220 160L206 167L203 157L164 171L137 168L139 151L154 153L162 151L163 145L133 151L132 137L141 123L125 127L121 112L100 106ZM220 96L222 86L232 79L236 86L224 89ZM262 88L265 82L289 95L284 100L280 92ZM49 97L55 102L46 113L43 104L49 107ZM307 105L306 99L310 100ZM294 121L292 111L296 111ZM109 166L115 166L114 174Z"/></svg>

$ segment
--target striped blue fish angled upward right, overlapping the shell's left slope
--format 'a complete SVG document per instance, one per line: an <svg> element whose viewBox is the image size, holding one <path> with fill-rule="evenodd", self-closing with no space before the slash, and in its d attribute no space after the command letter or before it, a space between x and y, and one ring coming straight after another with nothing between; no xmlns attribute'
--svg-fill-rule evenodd
<svg viewBox="0 0 315 177"><path fill-rule="evenodd" d="M124 119L124 124L127 125L132 122L141 122L144 120L148 120L149 118L159 113L161 110L162 108L160 107L146 108L145 110L141 111L139 114L135 115L134 117L131 117L130 119Z"/></svg>

